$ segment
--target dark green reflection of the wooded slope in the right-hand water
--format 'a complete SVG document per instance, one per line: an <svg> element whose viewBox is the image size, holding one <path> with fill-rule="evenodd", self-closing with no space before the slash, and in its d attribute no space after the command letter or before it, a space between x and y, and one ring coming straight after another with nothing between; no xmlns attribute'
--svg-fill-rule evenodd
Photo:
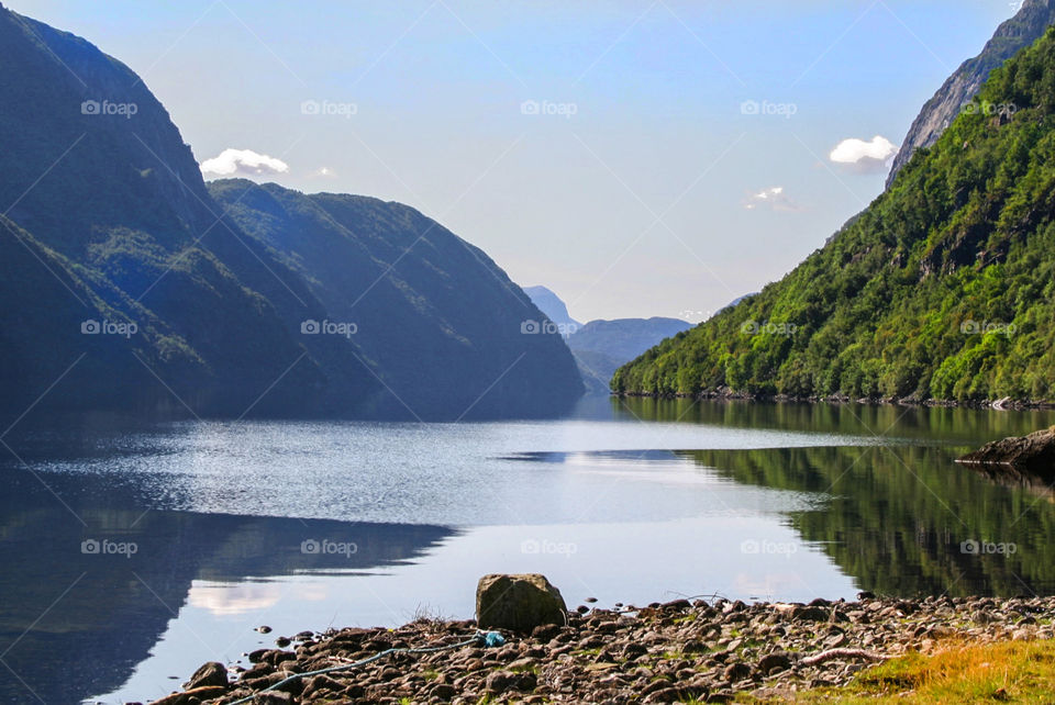
<svg viewBox="0 0 1055 705"><path fill-rule="evenodd" d="M867 590L892 595L1055 594L1055 506L954 462L965 448L680 451L740 483L818 492L791 525ZM1013 547L1000 550L1000 547Z"/></svg>

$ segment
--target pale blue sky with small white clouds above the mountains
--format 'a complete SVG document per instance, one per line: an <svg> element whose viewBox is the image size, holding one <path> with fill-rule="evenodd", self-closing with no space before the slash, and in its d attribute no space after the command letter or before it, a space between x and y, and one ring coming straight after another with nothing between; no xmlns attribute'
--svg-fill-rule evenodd
<svg viewBox="0 0 1055 705"><path fill-rule="evenodd" d="M206 178L400 201L573 317L707 318L877 197L1009 0L4 0L140 74Z"/></svg>

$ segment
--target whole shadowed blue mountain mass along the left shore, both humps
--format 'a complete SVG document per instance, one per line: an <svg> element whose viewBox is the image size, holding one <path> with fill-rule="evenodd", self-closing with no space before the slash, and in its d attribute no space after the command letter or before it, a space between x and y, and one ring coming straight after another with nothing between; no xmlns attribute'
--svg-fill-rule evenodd
<svg viewBox="0 0 1055 705"><path fill-rule="evenodd" d="M526 294L433 221L210 190L126 66L2 8L0 45L0 413L457 418L581 393L558 336L521 334Z"/></svg>

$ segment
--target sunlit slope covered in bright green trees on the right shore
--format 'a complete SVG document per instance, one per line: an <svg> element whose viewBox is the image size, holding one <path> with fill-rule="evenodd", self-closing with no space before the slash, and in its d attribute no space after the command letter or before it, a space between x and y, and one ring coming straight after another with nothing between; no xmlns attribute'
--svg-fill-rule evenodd
<svg viewBox="0 0 1055 705"><path fill-rule="evenodd" d="M1055 400L1055 31L973 104L824 247L613 390Z"/></svg>

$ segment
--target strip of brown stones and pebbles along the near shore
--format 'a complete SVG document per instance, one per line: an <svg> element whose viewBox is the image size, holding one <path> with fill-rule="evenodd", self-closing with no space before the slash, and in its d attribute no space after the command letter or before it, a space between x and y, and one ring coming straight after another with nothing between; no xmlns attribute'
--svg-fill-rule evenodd
<svg viewBox="0 0 1055 705"><path fill-rule="evenodd" d="M841 686L863 669L946 645L1052 639L1055 598L815 600L745 604L678 600L646 607L578 607L564 625L502 631L431 653L387 649L457 645L471 620L419 619L397 629L345 628L279 637L248 663L207 663L156 705L289 703L673 703L730 702L737 695L787 698ZM278 690L266 691L280 681Z"/></svg>

